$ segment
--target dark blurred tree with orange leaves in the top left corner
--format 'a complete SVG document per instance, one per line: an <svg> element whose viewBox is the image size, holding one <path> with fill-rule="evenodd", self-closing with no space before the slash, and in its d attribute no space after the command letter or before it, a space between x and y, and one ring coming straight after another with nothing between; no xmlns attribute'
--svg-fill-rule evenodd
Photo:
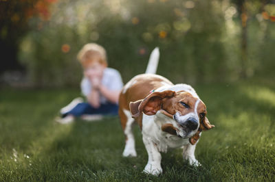
<svg viewBox="0 0 275 182"><path fill-rule="evenodd" d="M17 61L19 40L30 29L28 20L39 16L50 18L50 5L56 0L2 0L0 1L0 53L4 64L0 73L7 69L20 69Z"/></svg>

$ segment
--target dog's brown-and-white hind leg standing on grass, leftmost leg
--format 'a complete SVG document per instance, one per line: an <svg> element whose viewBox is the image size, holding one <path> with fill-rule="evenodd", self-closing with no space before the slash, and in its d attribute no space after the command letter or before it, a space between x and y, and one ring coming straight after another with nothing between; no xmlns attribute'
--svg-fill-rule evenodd
<svg viewBox="0 0 275 182"><path fill-rule="evenodd" d="M129 110L120 109L120 120L122 122L122 129L124 130L124 135L126 138L125 148L122 153L124 157L136 157L137 152L135 151L135 138L132 132L132 125L135 121Z"/></svg>

